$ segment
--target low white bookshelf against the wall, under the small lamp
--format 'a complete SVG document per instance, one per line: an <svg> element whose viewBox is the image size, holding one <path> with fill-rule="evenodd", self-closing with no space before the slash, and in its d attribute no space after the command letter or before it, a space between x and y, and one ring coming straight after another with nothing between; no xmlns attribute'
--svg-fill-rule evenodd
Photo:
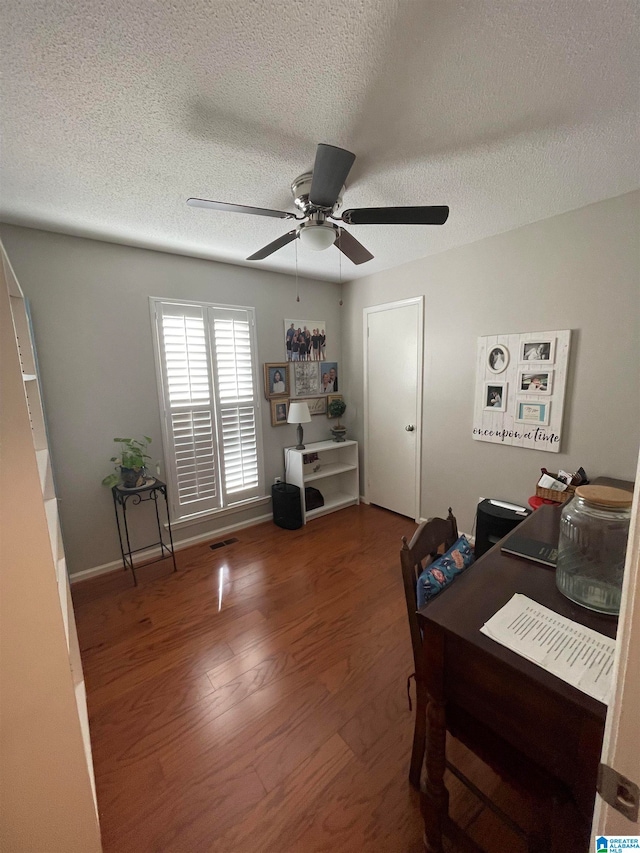
<svg viewBox="0 0 640 853"><path fill-rule="evenodd" d="M360 503L357 441L318 441L304 450L288 447L285 453L287 482L300 489L302 520L336 512ZM314 458L317 454L317 459ZM324 498L324 505L307 511L305 487L313 486Z"/></svg>

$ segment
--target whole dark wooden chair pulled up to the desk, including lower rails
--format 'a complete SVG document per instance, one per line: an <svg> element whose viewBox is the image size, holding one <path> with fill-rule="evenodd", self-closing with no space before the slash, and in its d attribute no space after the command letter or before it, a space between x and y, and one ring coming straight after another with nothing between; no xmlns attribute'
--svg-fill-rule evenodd
<svg viewBox="0 0 640 853"><path fill-rule="evenodd" d="M430 654L428 641L425 644L421 618L417 612L416 583L422 571L435 559L438 554L443 554L458 538L458 527L451 507L446 519L433 518L423 522L407 542L402 537L402 548L400 550L400 563L402 566L402 579L404 582L405 599L407 604L407 615L409 617L409 630L411 632L411 645L413 648L413 660L415 666L416 682L416 717L413 735L413 747L411 752L411 765L409 770L409 781L414 788L421 789L422 766L425 758L427 738L429 737L429 703L434 707L434 719L431 725L435 725L438 716L436 706L442 706L442 702L436 699L438 692L438 673L431 673L429 659L434 656ZM471 567L467 571L473 570ZM454 581L455 583L455 581ZM446 595L444 589L440 595ZM435 659L435 658L434 658ZM412 676L409 676L411 678ZM551 823L556 806L560 800L566 799L567 792L559 785L557 780L550 777L524 755L514 750L494 732L482 727L475 720L469 719L464 711L447 704L446 727L450 734L461 741L468 749L474 752L482 761L489 765L503 780L508 782L516 790L524 793L533 803L539 815L539 821L535 830L526 833L516 824L509 815L496 806L476 785L471 782L458 768L444 758L444 766L453 773L469 790L471 790L491 811L509 828L526 838L528 850L532 853L545 853L550 850L551 845ZM437 735L437 736L436 736ZM444 746L444 732L432 732L436 740L442 737L442 749ZM448 794L439 799L437 815L425 813L425 818L442 829L442 832L450 837L452 841L460 846L462 850L480 851L471 842L465 833L450 819L448 814ZM433 810L433 798L427 800L424 785L421 789L421 800L423 812ZM429 848L432 849L432 848ZM442 847L434 847L442 849ZM481 853L481 851L480 851Z"/></svg>

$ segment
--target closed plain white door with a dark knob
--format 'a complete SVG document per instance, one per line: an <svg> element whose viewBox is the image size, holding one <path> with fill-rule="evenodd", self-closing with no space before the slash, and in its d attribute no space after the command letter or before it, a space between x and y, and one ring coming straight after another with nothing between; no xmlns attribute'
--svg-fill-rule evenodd
<svg viewBox="0 0 640 853"><path fill-rule="evenodd" d="M364 310L365 498L420 517L423 298Z"/></svg>

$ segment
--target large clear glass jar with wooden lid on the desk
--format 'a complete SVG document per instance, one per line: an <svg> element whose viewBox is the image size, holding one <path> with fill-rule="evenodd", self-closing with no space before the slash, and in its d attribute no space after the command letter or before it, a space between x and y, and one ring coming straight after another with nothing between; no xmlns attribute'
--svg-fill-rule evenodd
<svg viewBox="0 0 640 853"><path fill-rule="evenodd" d="M556 584L599 613L620 612L633 495L609 486L579 486L560 517Z"/></svg>

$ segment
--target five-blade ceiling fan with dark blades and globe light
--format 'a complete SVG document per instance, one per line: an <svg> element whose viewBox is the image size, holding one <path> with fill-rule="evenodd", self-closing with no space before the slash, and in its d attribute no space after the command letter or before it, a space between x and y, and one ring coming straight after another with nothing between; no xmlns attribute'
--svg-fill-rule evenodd
<svg viewBox="0 0 640 853"><path fill-rule="evenodd" d="M226 210L230 213L297 219L301 222L293 231L288 231L250 255L248 261L261 261L299 237L306 246L316 251L336 245L354 264L363 264L370 261L373 255L348 231L335 225L335 222L346 222L349 225L444 225L447 221L449 208L446 205L357 207L345 210L341 216L335 215L342 206L342 190L355 159L356 155L344 148L323 142L318 145L313 171L305 172L291 184L294 204L302 213L301 216L284 210L248 207L244 204L228 204L204 198L189 198L187 204L192 207Z"/></svg>

